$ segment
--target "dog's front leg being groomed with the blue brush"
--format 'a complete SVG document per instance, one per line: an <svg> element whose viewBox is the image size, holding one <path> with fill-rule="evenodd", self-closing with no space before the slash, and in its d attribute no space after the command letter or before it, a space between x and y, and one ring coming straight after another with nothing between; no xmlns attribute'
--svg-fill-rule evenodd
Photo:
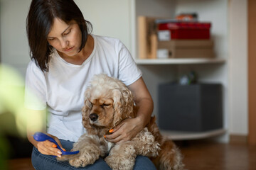
<svg viewBox="0 0 256 170"><path fill-rule="evenodd" d="M79 156L69 160L70 165L75 167L84 167L87 164L93 164L99 159L102 151L100 149L100 140L96 135L82 135L78 142L75 142L72 150L79 150Z"/></svg>

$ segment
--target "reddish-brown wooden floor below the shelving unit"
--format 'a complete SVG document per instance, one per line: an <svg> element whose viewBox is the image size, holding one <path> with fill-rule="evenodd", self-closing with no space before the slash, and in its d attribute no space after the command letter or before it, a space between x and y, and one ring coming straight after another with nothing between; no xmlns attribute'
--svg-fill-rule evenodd
<svg viewBox="0 0 256 170"><path fill-rule="evenodd" d="M189 170L255 170L256 146L213 142L177 143ZM31 159L13 159L9 169L32 170Z"/></svg>

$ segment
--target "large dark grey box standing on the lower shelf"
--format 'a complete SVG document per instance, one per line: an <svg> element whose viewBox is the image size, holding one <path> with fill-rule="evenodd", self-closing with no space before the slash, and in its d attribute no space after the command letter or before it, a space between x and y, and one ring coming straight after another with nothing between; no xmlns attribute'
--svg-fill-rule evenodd
<svg viewBox="0 0 256 170"><path fill-rule="evenodd" d="M160 84L159 128L203 132L223 128L221 84Z"/></svg>

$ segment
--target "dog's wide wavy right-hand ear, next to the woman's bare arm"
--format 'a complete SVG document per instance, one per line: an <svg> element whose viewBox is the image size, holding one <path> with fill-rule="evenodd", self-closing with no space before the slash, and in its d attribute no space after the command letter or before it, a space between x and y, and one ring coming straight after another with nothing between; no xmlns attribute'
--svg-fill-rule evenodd
<svg viewBox="0 0 256 170"><path fill-rule="evenodd" d="M134 118L132 91L127 87L113 90L114 100L114 127L125 118Z"/></svg>

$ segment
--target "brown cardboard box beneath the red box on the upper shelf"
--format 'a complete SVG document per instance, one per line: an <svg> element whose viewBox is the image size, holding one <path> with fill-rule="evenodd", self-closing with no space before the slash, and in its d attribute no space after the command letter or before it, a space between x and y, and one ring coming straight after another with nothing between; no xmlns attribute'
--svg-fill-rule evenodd
<svg viewBox="0 0 256 170"><path fill-rule="evenodd" d="M168 50L169 58L214 57L213 40L170 40L159 41L157 49Z"/></svg>

